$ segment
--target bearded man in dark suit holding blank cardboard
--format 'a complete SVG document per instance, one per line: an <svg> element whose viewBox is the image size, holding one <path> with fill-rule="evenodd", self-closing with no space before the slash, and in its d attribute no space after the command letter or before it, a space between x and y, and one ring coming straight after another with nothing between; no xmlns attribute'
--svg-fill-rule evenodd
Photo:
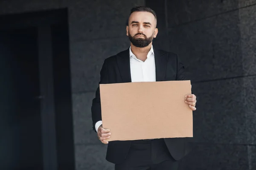
<svg viewBox="0 0 256 170"><path fill-rule="evenodd" d="M152 40L158 33L156 26L153 10L143 6L131 9L126 26L131 46L105 59L99 84L186 79L176 54L153 48ZM196 110L194 94L184 96L184 102ZM91 111L93 130L102 143L108 144L106 159L115 164L115 170L177 170L177 161L189 152L186 138L106 142L111 133L102 127L99 87Z"/></svg>

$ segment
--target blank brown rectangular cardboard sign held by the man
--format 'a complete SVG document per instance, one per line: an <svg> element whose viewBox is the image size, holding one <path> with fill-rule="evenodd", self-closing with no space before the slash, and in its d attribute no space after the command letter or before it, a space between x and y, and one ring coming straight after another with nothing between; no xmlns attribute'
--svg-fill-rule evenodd
<svg viewBox="0 0 256 170"><path fill-rule="evenodd" d="M116 140L193 137L190 80L101 84L102 127Z"/></svg>

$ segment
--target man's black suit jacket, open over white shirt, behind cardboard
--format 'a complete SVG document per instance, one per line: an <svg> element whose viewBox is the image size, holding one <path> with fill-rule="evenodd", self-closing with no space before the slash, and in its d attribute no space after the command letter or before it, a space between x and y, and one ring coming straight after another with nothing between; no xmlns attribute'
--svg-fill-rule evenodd
<svg viewBox="0 0 256 170"><path fill-rule="evenodd" d="M172 52L154 49L156 81L185 80L184 66ZM129 49L105 59L100 71L99 84L131 82ZM99 87L93 99L92 107L93 130L96 122L102 120ZM164 139L174 159L183 158L188 152L186 138ZM106 159L114 164L121 163L127 156L131 141L111 141L108 143Z"/></svg>

